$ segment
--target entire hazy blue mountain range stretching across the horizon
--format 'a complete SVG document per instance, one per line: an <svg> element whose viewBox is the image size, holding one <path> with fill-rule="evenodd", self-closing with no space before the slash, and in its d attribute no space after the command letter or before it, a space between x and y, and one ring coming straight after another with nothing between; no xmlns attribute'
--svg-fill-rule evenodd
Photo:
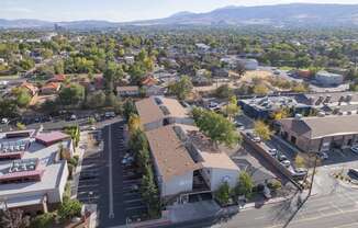
<svg viewBox="0 0 358 228"><path fill-rule="evenodd" d="M126 25L268 25L280 27L358 26L358 4L276 4L260 7L226 7L206 13L179 12L169 18L134 21L72 21L0 19L2 29L104 29Z"/></svg>

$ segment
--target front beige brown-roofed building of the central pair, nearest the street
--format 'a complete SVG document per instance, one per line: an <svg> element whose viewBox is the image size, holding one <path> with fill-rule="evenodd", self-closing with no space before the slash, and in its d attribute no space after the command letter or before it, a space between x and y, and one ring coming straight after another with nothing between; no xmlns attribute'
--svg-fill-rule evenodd
<svg viewBox="0 0 358 228"><path fill-rule="evenodd" d="M234 187L239 168L190 125L167 125L146 132L164 202L186 203L190 195L211 193L224 182Z"/></svg>

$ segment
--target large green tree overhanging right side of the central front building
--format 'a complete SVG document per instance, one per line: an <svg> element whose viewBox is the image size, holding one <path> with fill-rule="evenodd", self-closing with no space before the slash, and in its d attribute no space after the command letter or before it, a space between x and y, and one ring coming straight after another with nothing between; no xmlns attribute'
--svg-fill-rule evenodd
<svg viewBox="0 0 358 228"><path fill-rule="evenodd" d="M192 114L197 126L213 140L216 147L217 144L231 147L240 141L235 126L223 115L202 109L194 109Z"/></svg>

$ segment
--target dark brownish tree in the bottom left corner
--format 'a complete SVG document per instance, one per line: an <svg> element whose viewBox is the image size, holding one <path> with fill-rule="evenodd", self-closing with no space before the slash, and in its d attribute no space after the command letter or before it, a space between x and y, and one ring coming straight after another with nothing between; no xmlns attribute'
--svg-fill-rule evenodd
<svg viewBox="0 0 358 228"><path fill-rule="evenodd" d="M1 228L26 228L30 226L30 217L24 216L23 210L0 209L0 227Z"/></svg>

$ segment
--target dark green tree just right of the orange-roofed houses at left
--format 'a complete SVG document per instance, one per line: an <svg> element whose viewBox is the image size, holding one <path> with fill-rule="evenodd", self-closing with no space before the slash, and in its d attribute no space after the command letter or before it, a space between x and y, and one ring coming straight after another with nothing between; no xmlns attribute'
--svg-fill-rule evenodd
<svg viewBox="0 0 358 228"><path fill-rule="evenodd" d="M85 100L85 88L77 83L69 84L59 91L58 99L63 105L78 105Z"/></svg>

